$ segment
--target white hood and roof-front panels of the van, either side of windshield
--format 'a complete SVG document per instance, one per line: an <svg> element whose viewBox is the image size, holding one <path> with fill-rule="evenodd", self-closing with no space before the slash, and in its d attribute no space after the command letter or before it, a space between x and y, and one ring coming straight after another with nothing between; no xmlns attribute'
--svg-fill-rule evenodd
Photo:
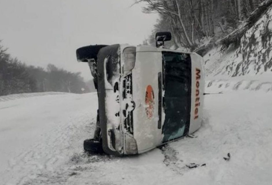
<svg viewBox="0 0 272 185"><path fill-rule="evenodd" d="M146 152L154 147L161 145L164 137L164 134L162 133L162 128L165 122L165 113L164 110L162 109L161 110L162 126L161 128L158 128L159 101L157 98L159 95L158 73L162 72L163 51L184 53L182 51L173 51L165 48L155 48L146 46L136 48L136 62L135 68L132 70L132 84L133 84L133 100L136 104L136 108L134 110L134 114L136 115L134 117L134 123L136 123L134 124L134 139L137 142L138 153ZM202 57L196 53L190 53L190 56L192 61L191 62L192 75L191 75L190 126L188 134L195 132L201 126L201 118L203 114L202 111L203 92L204 92L203 66L201 66L201 64L203 63ZM200 79L197 79L198 70L200 70L199 74ZM151 118L147 118L146 114L145 92L148 85L152 86L155 95L153 116ZM198 96L196 96L196 89L199 90ZM180 137L177 139L180 139Z"/></svg>

